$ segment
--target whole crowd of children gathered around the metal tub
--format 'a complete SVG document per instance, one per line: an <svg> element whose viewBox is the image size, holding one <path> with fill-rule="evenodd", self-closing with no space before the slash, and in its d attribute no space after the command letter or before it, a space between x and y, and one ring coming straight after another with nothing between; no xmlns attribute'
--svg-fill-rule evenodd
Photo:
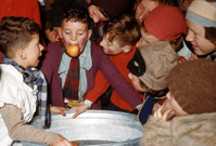
<svg viewBox="0 0 216 146"><path fill-rule="evenodd" d="M87 109L137 114L142 146L216 145L215 0L45 2L0 1L0 145L72 146L29 122Z"/></svg>

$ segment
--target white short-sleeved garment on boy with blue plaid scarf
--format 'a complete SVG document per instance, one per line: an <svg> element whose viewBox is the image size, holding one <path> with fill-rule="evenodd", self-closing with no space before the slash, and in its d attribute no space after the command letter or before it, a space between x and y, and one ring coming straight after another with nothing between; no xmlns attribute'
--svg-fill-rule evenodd
<svg viewBox="0 0 216 146"><path fill-rule="evenodd" d="M23 120L29 122L36 111L37 87L33 90L23 81L23 75L11 65L0 65L2 75L0 79L0 108L4 104L21 108ZM7 125L0 114L0 146L11 145L13 140L9 136Z"/></svg>

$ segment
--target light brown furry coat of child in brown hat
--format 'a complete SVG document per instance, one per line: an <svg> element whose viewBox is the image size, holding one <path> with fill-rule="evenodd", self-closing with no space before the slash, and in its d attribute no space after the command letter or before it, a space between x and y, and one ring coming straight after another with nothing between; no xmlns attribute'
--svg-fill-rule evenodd
<svg viewBox="0 0 216 146"><path fill-rule="evenodd" d="M216 112L162 121L150 117L142 146L216 146Z"/></svg>

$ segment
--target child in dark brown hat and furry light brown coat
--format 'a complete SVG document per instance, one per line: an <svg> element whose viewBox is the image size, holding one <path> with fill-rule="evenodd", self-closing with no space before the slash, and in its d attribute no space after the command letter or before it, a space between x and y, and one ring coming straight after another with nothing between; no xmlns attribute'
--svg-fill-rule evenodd
<svg viewBox="0 0 216 146"><path fill-rule="evenodd" d="M216 64L183 62L169 72L167 85L171 109L161 107L149 118L142 146L215 146ZM169 120L170 110L176 117Z"/></svg>

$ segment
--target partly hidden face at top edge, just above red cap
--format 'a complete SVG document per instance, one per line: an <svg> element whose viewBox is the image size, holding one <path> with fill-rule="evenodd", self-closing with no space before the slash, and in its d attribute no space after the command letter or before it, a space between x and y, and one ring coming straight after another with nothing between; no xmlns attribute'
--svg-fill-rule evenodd
<svg viewBox="0 0 216 146"><path fill-rule="evenodd" d="M141 24L144 18L152 12L156 6L158 6L157 1L151 0L141 0L136 9L136 19L139 24Z"/></svg>

